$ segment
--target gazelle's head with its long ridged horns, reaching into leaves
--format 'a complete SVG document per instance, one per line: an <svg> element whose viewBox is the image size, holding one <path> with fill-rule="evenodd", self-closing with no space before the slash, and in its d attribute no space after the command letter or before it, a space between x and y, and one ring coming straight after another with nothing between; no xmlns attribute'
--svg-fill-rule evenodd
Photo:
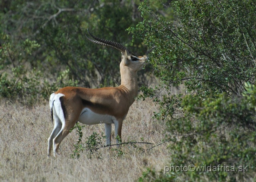
<svg viewBox="0 0 256 182"><path fill-rule="evenodd" d="M91 42L94 42L96 44L100 44L103 46L108 46L108 47L112 47L116 50L119 50L122 53L122 61L120 63L120 68L127 66L127 68L129 68L130 70L132 70L133 72L138 72L139 70L142 70L143 66L146 65L146 60L148 60L148 56L135 56L130 50L128 50L125 46L123 46L122 44L119 44L117 42L112 42L109 40L104 40L101 38L97 38L95 36L93 36L89 30L87 29L88 33L90 34L90 36L92 36L92 39L88 38L88 36L86 36L86 38L88 38L88 40L90 40Z"/></svg>

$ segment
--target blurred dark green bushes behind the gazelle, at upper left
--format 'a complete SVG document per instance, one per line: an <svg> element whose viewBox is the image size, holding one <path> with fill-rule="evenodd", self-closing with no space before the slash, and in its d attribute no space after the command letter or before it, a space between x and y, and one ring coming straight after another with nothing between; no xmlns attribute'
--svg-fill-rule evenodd
<svg viewBox="0 0 256 182"><path fill-rule="evenodd" d="M85 33L129 47L126 29L142 20L134 0L2 0L0 7L0 93L8 98L48 98L67 85L118 85L120 52L93 44ZM142 42L133 47L136 55L146 52Z"/></svg>

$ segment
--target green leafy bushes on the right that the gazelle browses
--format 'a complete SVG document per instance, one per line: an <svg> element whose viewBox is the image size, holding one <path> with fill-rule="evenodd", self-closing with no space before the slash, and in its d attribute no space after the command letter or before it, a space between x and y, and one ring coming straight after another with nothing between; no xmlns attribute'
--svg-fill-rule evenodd
<svg viewBox="0 0 256 182"><path fill-rule="evenodd" d="M154 117L166 122L170 165L248 166L245 172L148 169L141 181L248 181L255 178L256 4L254 1L170 1L172 17L144 1L133 34L150 53ZM175 86L183 94L173 94Z"/></svg>

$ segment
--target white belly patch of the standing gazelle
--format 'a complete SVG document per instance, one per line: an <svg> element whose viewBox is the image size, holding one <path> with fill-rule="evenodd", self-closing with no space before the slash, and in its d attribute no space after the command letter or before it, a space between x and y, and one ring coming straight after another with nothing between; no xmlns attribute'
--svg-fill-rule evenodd
<svg viewBox="0 0 256 182"><path fill-rule="evenodd" d="M83 124L112 124L113 121L116 120L114 116L110 116L108 114L97 114L92 112L92 110L88 108L84 108L78 118L78 121Z"/></svg>

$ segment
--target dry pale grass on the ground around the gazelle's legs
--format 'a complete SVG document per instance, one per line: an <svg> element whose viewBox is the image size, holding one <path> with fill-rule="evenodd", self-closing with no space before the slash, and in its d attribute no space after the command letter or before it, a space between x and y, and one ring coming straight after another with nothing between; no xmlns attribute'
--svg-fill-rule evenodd
<svg viewBox="0 0 256 182"><path fill-rule="evenodd" d="M145 142L160 143L165 125L152 119L155 109L150 101L134 102L123 124L123 141L140 142L143 137ZM85 153L79 160L73 159L70 154L78 139L75 130L60 144L61 156L47 159L47 138L53 129L47 103L27 108L2 100L0 122L1 181L136 181L146 167L159 169L168 163L166 144L149 151L122 146L122 156L109 148L101 148L102 159L90 159ZM103 131L104 125L83 128L84 137ZM112 137L113 134L114 127Z"/></svg>

